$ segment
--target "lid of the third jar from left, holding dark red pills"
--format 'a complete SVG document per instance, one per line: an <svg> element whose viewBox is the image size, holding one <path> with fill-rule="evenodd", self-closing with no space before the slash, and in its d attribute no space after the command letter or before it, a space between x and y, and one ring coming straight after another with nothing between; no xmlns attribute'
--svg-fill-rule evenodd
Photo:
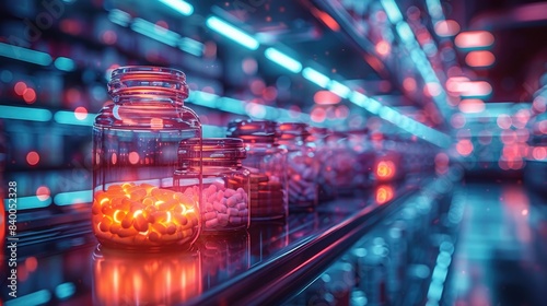
<svg viewBox="0 0 547 306"><path fill-rule="evenodd" d="M233 120L228 123L226 137L244 142L275 142L277 123L268 120Z"/></svg>

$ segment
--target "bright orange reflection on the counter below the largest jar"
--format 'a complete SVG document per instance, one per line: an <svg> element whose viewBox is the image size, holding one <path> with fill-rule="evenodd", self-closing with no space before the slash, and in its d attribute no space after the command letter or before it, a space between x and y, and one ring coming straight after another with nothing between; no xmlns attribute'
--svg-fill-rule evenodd
<svg viewBox="0 0 547 306"><path fill-rule="evenodd" d="M199 296L199 252L93 252L93 305L176 305Z"/></svg>

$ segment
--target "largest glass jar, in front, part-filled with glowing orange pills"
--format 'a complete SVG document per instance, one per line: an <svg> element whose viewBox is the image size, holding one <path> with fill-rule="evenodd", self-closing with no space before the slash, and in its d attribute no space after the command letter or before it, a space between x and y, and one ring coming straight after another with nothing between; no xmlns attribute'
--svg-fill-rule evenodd
<svg viewBox="0 0 547 306"><path fill-rule="evenodd" d="M173 174L178 143L201 139L201 123L184 106L185 74L121 67L108 92L114 103L93 126L93 233L105 247L189 247L199 235L199 209L173 190Z"/></svg>

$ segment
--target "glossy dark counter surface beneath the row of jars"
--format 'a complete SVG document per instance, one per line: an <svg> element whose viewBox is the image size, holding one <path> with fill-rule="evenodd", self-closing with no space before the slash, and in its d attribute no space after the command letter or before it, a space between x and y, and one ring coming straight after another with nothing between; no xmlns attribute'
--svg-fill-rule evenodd
<svg viewBox="0 0 547 306"><path fill-rule="evenodd" d="M288 283L309 282L312 270L321 268L318 262L328 263L336 256L335 248L341 251L344 244L349 246L349 237L357 239L359 231L382 220L424 179L377 185L349 198L321 202L313 212L291 212L282 223L252 223L243 233L201 235L189 251L104 249L88 221L66 220L21 232L18 298L8 296L4 289L1 297L4 305L249 305L279 301L298 290ZM8 256L9 250L2 249Z"/></svg>

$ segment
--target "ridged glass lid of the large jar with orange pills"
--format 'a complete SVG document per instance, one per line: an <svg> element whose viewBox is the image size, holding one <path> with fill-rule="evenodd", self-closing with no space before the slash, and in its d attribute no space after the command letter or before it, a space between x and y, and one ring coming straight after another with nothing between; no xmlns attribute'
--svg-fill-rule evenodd
<svg viewBox="0 0 547 306"><path fill-rule="evenodd" d="M186 75L166 67L125 66L113 70L108 82L108 94L174 95L177 99L188 97Z"/></svg>

